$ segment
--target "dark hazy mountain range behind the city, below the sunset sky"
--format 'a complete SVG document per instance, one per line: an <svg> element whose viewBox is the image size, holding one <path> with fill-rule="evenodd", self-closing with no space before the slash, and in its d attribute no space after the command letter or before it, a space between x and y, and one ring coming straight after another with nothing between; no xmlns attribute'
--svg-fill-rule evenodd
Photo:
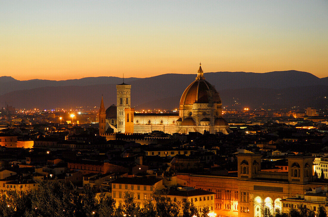
<svg viewBox="0 0 328 217"><path fill-rule="evenodd" d="M186 87L195 74L162 74L149 78L124 78L131 84L131 103L136 109L178 108ZM227 108L291 108L327 107L328 77L296 71L209 72L205 79L215 86ZM0 105L16 108L99 107L101 95L105 106L116 104L119 77L86 77L53 81L19 81L0 77ZM325 98L327 97L327 98ZM236 101L236 102L235 102Z"/></svg>

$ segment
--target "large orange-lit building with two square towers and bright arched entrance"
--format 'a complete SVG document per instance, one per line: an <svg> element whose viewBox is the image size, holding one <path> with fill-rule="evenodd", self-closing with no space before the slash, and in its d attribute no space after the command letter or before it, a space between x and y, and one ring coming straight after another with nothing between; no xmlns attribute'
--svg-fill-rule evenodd
<svg viewBox="0 0 328 217"><path fill-rule="evenodd" d="M313 177L313 157L291 155L288 172L261 171L260 154L238 154L234 175L178 173L186 186L215 192L217 216L263 217L281 212L281 199L303 195L309 188L327 187L326 180Z"/></svg>

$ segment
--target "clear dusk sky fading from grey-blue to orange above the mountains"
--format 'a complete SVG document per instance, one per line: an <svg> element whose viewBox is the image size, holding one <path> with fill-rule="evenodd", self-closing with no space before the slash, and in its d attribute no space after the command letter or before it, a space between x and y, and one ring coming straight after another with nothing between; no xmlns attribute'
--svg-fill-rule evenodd
<svg viewBox="0 0 328 217"><path fill-rule="evenodd" d="M328 76L328 1L0 0L0 76Z"/></svg>

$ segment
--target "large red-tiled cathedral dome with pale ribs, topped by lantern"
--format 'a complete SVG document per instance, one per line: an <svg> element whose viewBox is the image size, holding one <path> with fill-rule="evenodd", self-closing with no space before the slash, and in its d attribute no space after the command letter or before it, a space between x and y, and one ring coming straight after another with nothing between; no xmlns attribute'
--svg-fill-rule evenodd
<svg viewBox="0 0 328 217"><path fill-rule="evenodd" d="M200 64L199 64L200 65ZM183 92L180 105L192 105L194 103L210 103L209 91L212 89L213 103L221 104L221 98L215 88L205 80L203 70L199 66L196 80L191 83Z"/></svg>

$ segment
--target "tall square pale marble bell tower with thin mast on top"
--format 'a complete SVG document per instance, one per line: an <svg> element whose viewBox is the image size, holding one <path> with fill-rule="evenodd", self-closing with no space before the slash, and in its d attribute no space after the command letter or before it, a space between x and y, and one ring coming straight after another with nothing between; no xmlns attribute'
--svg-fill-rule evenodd
<svg viewBox="0 0 328 217"><path fill-rule="evenodd" d="M131 85L118 84L117 90L117 131L125 132L125 108L131 108Z"/></svg>

